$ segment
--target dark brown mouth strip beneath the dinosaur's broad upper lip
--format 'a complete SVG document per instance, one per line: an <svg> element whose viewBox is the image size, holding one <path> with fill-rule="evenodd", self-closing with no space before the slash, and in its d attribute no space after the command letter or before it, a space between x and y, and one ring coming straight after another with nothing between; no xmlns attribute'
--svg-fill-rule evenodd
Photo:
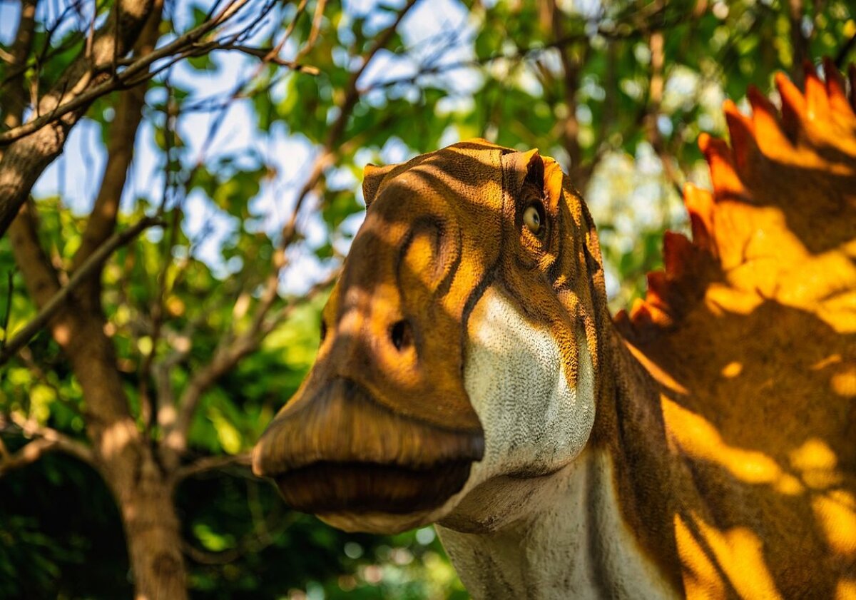
<svg viewBox="0 0 856 600"><path fill-rule="evenodd" d="M460 491L470 460L420 469L397 465L321 461L276 475L283 498L296 510L412 514L437 508Z"/></svg>

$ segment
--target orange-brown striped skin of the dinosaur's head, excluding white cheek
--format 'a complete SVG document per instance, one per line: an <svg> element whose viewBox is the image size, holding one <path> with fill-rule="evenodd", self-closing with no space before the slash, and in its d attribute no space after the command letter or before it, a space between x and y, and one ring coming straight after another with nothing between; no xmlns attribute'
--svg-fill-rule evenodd
<svg viewBox="0 0 856 600"><path fill-rule="evenodd" d="M412 472L469 464L484 453L461 371L467 320L485 288L498 282L511 299L526 294L520 312L552 324L569 381L575 332L593 339L595 326L589 278L579 276L587 268L580 200L551 159L473 140L404 165L370 167L364 190L366 222L324 308L318 359L260 440L254 468L276 476L313 463L398 467L400 478L374 485L378 497L406 499L397 508L380 502L401 513L419 492L407 488ZM560 202L566 198L576 212ZM550 223L541 236L522 227L532 202ZM582 306L590 306L587 313ZM430 489L438 508L468 474L444 482L440 495L437 478L426 475L421 493ZM361 506L347 494L330 502L324 476L317 493L310 479L301 478L301 490L281 486L295 507Z"/></svg>

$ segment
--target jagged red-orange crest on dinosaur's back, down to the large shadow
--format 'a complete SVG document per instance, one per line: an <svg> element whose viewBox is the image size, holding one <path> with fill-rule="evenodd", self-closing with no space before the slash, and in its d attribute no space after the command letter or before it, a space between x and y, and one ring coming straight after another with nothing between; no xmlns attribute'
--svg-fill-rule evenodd
<svg viewBox="0 0 856 600"><path fill-rule="evenodd" d="M631 329L668 330L718 286L856 331L856 300L841 295L856 298L856 68L849 99L835 65L824 68L823 80L806 68L805 92L777 74L781 111L754 87L752 116L726 101L730 146L699 136L713 191L685 187L693 240L665 236L665 271L622 317Z"/></svg>

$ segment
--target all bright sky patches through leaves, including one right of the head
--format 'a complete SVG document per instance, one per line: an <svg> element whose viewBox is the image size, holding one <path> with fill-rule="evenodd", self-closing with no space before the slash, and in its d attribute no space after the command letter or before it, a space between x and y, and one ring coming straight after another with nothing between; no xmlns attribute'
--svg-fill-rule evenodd
<svg viewBox="0 0 856 600"><path fill-rule="evenodd" d="M39 18L50 22L58 14L58 6L66 0L56 0L40 4ZM350 18L365 15L370 24L377 30L382 29L392 19L389 10L377 9L377 0L345 0L345 14ZM395 3L401 4L401 0ZM572 3L568 3L572 4ZM389 6L389 0L383 5ZM173 6L175 26L178 31L192 26L192 6L189 2L175 2ZM585 14L593 14L599 7L598 0L583 0L573 3L574 10ZM15 31L18 15L18 4L0 0L0 41L9 43ZM379 52L372 64L366 68L360 80L360 87L366 87L377 81L392 80L415 73L419 68L419 58L440 54L443 61L459 62L473 56L474 24L469 13L457 0L423 0L416 4L401 24L401 36L404 43L417 51L410 56L396 56L390 52ZM259 39L263 39L263 29ZM449 32L455 32L449 38ZM449 41L452 39L453 41ZM258 41L258 40L257 40ZM164 41L162 40L162 44ZM249 43L253 43L250 40ZM438 46L442 45L442 47ZM442 50L438 52L437 50ZM282 56L294 56L297 48L293 44L286 45ZM336 57L347 60L347 56ZM169 71L169 78L175 85L191 89L199 93L199 97L211 97L231 92L237 80L252 73L258 65L253 57L235 52L215 52L213 61L217 68L209 71L199 71L179 62ZM163 77L164 75L161 75ZM456 97L449 99L449 109L455 103L472 102L467 94L480 85L480 75L474 70L458 69L447 77L449 88L455 89ZM450 80L449 80L450 78ZM672 78L681 85L681 78ZM686 83L692 85L692 82ZM521 85L526 85L525 81ZM282 98L282 87L274 87L271 93L275 98ZM684 90L677 90L681 95ZM669 90L667 89L667 97ZM149 92L150 103L163 101L163 89ZM371 101L371 97L368 98ZM718 99L714 102L718 104ZM187 157L194 161L197 157L214 159L222 156L235 157L264 157L265 163L273 167L276 176L265 181L259 195L250 199L253 214L259 216L259 223L270 235L276 235L286 217L291 214L296 190L303 183L306 170L311 165L317 151L302 136L289 134L282 124L275 124L267 135L259 135L254 124L253 108L249 100L236 101L231 104L223 127L216 137L206 146L206 135L209 131L211 113L195 113L182 116L178 126L178 134L187 147ZM443 144L451 144L458 140L454 130L444 136ZM425 148L431 151L433 148ZM588 191L589 205L596 220L598 211L615 211L615 196L623 194L625 213L618 215L617 233L620 243L632 245L634 235L638 232L640 222L645 224L662 214L661 199L663 190L657 184L660 178L661 165L657 157L649 156L642 148L637 157L616 155L608 157L608 176L595 175ZM413 151L391 139L381 151L383 163L398 163L412 157ZM650 154L650 153L649 153ZM367 163L372 159L372 153L366 151L358 154L361 162ZM561 157L557 157L560 159ZM98 191L100 177L104 169L105 152L101 142L100 126L89 119L82 119L72 130L66 142L65 151L57 158L45 173L39 178L33 193L36 198L60 195L63 201L74 211L88 211ZM603 169L601 169L603 172ZM621 173L621 177L615 174ZM334 169L330 173L337 187L353 187L361 199L360 181L349 171ZM144 120L137 135L135 144L134 163L129 173L128 184L123 195L122 205L125 209L134 205L136 199L145 197L157 204L163 189L163 153L154 142L152 123ZM627 210L632 206L632 210ZM680 205L677 205L680 209ZM306 235L309 247L296 248L290 256L290 265L281 274L282 292L301 294L327 276L332 264L323 264L312 254L311 247L318 247L326 241L324 224L318 217L317 211L312 211L312 203L306 206L301 214L300 229ZM673 209L675 205L673 203ZM194 252L197 258L204 260L219 276L229 276L241 268L240 259L234 263L224 263L220 253L223 241L233 230L232 217L217 209L199 190L190 193L184 200L186 216L185 231L193 239L199 238ZM365 213L360 212L343 224L342 229L350 235L359 228ZM203 235L204 234L204 235ZM158 230L152 230L148 235L157 237ZM348 250L349 235L338 240L337 250L345 253ZM615 276L607 270L607 283L610 293L617 289Z"/></svg>

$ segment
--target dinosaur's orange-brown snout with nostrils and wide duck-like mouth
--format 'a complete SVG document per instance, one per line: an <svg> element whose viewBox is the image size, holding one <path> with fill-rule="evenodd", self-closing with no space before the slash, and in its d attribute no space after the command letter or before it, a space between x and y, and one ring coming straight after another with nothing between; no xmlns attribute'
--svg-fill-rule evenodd
<svg viewBox="0 0 856 600"><path fill-rule="evenodd" d="M316 363L253 456L253 470L274 478L294 508L325 517L431 510L481 460L484 433L461 351L450 349L461 323L432 301L452 259L430 220L387 232L384 244L354 244L324 308Z"/></svg>

